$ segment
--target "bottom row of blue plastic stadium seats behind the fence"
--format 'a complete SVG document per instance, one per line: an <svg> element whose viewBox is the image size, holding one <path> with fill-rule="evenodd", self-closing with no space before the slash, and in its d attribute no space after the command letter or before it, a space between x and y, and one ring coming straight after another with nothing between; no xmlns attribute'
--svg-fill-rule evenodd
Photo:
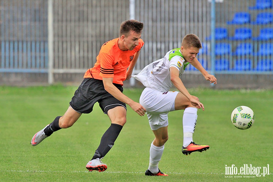
<svg viewBox="0 0 273 182"><path fill-rule="evenodd" d="M199 60L205 69L208 69L207 61L204 59ZM254 66L255 65L255 66ZM270 59L258 60L256 64L253 64L251 59L240 59L233 62L233 66L227 59L216 59L215 70L216 71L273 71L273 61ZM189 65L186 70L197 70L194 66Z"/></svg>

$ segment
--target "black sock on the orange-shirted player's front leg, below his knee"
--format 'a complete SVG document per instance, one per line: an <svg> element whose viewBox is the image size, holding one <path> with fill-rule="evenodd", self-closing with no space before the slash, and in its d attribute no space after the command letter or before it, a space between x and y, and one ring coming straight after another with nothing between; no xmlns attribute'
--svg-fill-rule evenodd
<svg viewBox="0 0 273 182"><path fill-rule="evenodd" d="M114 142L120 134L122 126L119 124L111 124L111 126L106 130L100 140L100 144L98 149L96 150L93 159L102 158L109 152L109 150L113 147Z"/></svg>

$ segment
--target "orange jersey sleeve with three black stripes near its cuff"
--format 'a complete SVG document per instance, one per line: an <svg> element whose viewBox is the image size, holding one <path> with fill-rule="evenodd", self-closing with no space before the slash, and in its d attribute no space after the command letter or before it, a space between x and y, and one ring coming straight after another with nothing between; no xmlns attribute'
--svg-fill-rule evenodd
<svg viewBox="0 0 273 182"><path fill-rule="evenodd" d="M101 57L101 60L100 60L99 76L103 78L113 78L114 77L114 68L113 68L114 57L107 53L101 53L100 57Z"/></svg>

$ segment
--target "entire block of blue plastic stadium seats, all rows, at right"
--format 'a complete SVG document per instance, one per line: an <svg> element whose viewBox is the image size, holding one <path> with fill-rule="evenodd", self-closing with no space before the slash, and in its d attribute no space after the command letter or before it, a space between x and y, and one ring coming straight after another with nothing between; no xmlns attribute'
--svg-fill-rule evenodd
<svg viewBox="0 0 273 182"><path fill-rule="evenodd" d="M255 6L248 7L250 10L261 10L273 8L272 0L256 0ZM270 25L273 23L273 13L259 12L256 14L254 21L251 21L250 12L236 12L233 19L227 21L227 25ZM256 31L256 27L254 28ZM253 29L253 30L254 30ZM215 40L224 40L215 44L215 70L216 71L273 71L273 43L256 42L255 49L253 41L268 41L273 39L273 27L260 28L257 37L252 36L252 29L248 27L236 27L232 37L228 36L228 29L225 27L215 28ZM211 40L211 36L206 38ZM237 44L235 50L227 40L242 40L244 43ZM248 42L246 42L248 41ZM234 51L234 52L233 52ZM256 52L254 52L256 51ZM203 44L203 49L199 50L199 54L210 54L207 44ZM233 57L237 56L237 57ZM240 57L239 57L240 56ZM207 60L200 57L200 63L205 69L210 69ZM235 59L234 59L235 58ZM197 70L194 66L187 66L186 70Z"/></svg>

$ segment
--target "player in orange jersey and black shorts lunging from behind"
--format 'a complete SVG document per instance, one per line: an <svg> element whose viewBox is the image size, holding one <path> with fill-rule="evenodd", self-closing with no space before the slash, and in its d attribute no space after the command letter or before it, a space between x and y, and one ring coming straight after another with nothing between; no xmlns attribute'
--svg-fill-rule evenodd
<svg viewBox="0 0 273 182"><path fill-rule="evenodd" d="M122 93L123 81L131 78L140 49L144 45L140 39L142 29L143 23L136 20L121 23L119 38L102 45L94 67L86 71L83 82L75 91L66 113L57 116L52 123L37 132L31 140L32 146L38 145L53 132L72 126L82 113L92 112L94 104L98 102L103 112L110 118L111 125L103 134L99 147L86 164L86 168L99 172L107 169L101 159L113 147L126 123L126 104L140 116L144 116L146 112L140 103L134 102Z"/></svg>

